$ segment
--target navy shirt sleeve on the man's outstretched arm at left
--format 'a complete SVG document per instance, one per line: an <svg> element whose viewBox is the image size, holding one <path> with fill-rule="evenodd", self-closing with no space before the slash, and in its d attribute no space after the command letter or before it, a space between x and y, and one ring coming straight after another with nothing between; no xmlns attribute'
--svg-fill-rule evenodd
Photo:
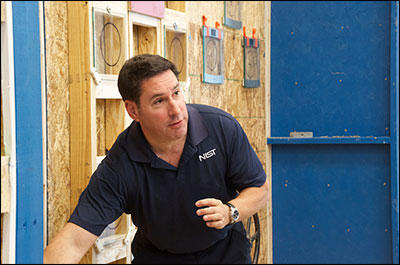
<svg viewBox="0 0 400 265"><path fill-rule="evenodd" d="M126 211L125 189L118 173L103 160L80 195L68 222L100 236L108 224Z"/></svg>

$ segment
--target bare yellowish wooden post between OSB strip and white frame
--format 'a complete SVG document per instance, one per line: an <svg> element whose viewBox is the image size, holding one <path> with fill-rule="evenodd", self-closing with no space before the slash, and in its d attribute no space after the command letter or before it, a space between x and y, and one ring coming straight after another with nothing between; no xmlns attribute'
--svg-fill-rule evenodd
<svg viewBox="0 0 400 265"><path fill-rule="evenodd" d="M89 6L68 1L71 213L92 174ZM90 249L81 263L91 263Z"/></svg>

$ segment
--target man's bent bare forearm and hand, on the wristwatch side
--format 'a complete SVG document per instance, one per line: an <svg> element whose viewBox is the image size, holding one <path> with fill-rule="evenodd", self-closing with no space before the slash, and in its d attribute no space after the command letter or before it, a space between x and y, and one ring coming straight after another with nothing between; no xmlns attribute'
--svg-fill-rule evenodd
<svg viewBox="0 0 400 265"><path fill-rule="evenodd" d="M246 220L260 209L269 200L268 178L261 187L249 187L243 189L239 195L229 201L239 210L239 220ZM196 202L197 207L205 207L196 211L197 215L203 216L208 227L222 229L229 224L230 209L222 201L214 198L202 199Z"/></svg>

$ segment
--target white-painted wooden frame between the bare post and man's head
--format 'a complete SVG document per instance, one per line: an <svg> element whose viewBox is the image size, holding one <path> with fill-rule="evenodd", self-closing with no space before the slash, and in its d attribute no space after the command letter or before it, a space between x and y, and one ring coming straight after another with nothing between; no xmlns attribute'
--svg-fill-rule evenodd
<svg viewBox="0 0 400 265"><path fill-rule="evenodd" d="M96 64L93 60L91 73L93 77L92 90L96 91L95 103L92 103L93 112L96 115L96 130L92 131L92 148L96 150L96 168L105 157L106 150L111 148L118 134L125 129L131 122L131 119L125 111L121 95L118 91L117 80L119 69L126 59L128 59L128 14L126 2L93 2L92 17L93 32L95 31L95 16L104 13L121 19L120 41L123 42L123 48L120 52L122 61L116 65L117 69L112 74L98 73ZM95 38L93 38L93 42ZM122 44L121 44L122 47ZM93 46L93 53L95 47ZM93 58L94 59L94 58ZM121 115L122 114L122 115ZM125 115L124 115L125 114ZM104 141L104 142L103 142ZM105 150L102 150L102 149ZM123 214L120 218L107 226L100 237L96 240L92 248L92 263L110 263L124 259L125 263L131 263L131 242L136 229L132 224L130 215Z"/></svg>

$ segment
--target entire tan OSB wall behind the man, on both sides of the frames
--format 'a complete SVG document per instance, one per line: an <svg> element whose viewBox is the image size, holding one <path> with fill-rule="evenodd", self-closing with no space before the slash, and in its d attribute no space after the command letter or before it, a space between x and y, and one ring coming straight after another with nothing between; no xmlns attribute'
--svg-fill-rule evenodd
<svg viewBox="0 0 400 265"><path fill-rule="evenodd" d="M185 4L183 4L185 3ZM242 29L232 29L223 25L223 1L186 1L168 2L168 7L185 12L188 19L188 70L190 103L208 104L219 107L237 118L244 128L249 141L259 156L264 168L269 173L266 147L268 128L269 79L265 65L269 60L269 2L241 2L241 21L246 27L246 35L252 35L256 28L256 37L260 40L260 81L258 88L243 87L243 47ZM67 3L49 1L45 7L46 39L46 78L47 78L47 241L60 231L71 214L71 170L70 170L70 120L69 120L69 79L68 79L68 21ZM267 11L267 12L266 12ZM202 16L207 17L207 26L219 27L224 31L224 83L211 85L202 82L203 43L201 37ZM142 28L134 27L136 35ZM267 36L265 36L267 32ZM135 33L135 32L134 32ZM136 36L134 34L134 38ZM155 34L153 34L155 35ZM134 42L137 43L137 42ZM158 40L157 45L161 45ZM157 45L153 45L157 47ZM146 45L147 46L147 45ZM153 47L152 46L152 47ZM134 47L134 54L140 51ZM156 49L156 48L154 48ZM154 52L156 53L155 50ZM267 71L266 71L267 70ZM117 108L113 113L121 113L118 100L97 100L97 155L104 155L110 143L107 142L106 109ZM107 106L107 103L112 106ZM266 114L267 111L267 114ZM116 122L118 123L118 122ZM118 123L119 124L119 123ZM104 125L104 126L103 126ZM266 126L267 125L267 126ZM122 125L121 125L122 126ZM111 134L110 134L111 136ZM114 138L113 135L110 138ZM261 248L259 263L272 263L272 226L270 204L259 212L261 223Z"/></svg>

